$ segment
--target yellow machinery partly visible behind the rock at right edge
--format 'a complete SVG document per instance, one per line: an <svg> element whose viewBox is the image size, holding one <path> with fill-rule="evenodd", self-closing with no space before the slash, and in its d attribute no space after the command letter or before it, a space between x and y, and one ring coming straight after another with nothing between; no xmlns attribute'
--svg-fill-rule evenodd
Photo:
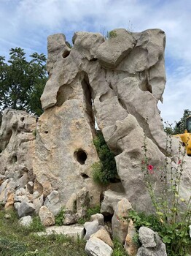
<svg viewBox="0 0 191 256"><path fill-rule="evenodd" d="M174 135L175 138L181 138L183 146L186 147L187 155L191 156L191 116L188 116L186 119L187 129L184 133L179 135Z"/></svg>

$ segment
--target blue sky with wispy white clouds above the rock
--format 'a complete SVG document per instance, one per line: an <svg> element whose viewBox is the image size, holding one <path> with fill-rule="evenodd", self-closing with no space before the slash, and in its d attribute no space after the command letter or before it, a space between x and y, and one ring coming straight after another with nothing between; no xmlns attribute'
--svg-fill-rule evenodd
<svg viewBox="0 0 191 256"><path fill-rule="evenodd" d="M0 0L0 55L15 47L47 55L47 36L55 33L71 42L75 31L163 29L167 83L158 107L174 123L191 110L190 14L191 0Z"/></svg>

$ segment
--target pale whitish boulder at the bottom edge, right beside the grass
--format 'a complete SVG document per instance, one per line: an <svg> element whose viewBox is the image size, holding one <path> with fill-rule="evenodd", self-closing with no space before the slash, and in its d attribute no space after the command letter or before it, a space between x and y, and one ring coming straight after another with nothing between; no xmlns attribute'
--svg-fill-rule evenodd
<svg viewBox="0 0 191 256"><path fill-rule="evenodd" d="M90 238L85 245L85 252L89 256L112 256L112 248L99 238Z"/></svg>

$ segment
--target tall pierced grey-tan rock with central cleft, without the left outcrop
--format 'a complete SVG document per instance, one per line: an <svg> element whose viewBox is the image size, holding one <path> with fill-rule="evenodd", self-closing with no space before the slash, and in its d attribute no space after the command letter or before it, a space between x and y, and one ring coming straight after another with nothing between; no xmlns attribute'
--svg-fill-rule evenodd
<svg viewBox="0 0 191 256"><path fill-rule="evenodd" d="M140 172L143 128L150 165L163 166L169 150L157 108L165 88L165 34L160 29L141 33L115 29L114 36L104 39L101 34L77 32L73 43L69 49L63 34L48 38L50 78L41 98L45 111L37 129L36 178L43 188L48 183L57 190L63 204L87 188L88 179L89 197L98 202L100 192L95 189L91 194L90 189L90 165L98 161L92 143L95 116L116 154L126 197L137 210L148 211L152 204ZM176 140L172 150L176 159ZM160 193L163 188L157 175L153 182Z"/></svg>

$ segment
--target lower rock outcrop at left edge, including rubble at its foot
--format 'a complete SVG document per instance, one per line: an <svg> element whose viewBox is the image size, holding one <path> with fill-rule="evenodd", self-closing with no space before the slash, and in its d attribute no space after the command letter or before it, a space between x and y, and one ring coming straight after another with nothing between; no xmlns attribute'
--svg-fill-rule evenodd
<svg viewBox="0 0 191 256"><path fill-rule="evenodd" d="M0 129L0 201L6 209L14 205L20 217L34 211L35 130L36 116L21 110L4 110Z"/></svg>

